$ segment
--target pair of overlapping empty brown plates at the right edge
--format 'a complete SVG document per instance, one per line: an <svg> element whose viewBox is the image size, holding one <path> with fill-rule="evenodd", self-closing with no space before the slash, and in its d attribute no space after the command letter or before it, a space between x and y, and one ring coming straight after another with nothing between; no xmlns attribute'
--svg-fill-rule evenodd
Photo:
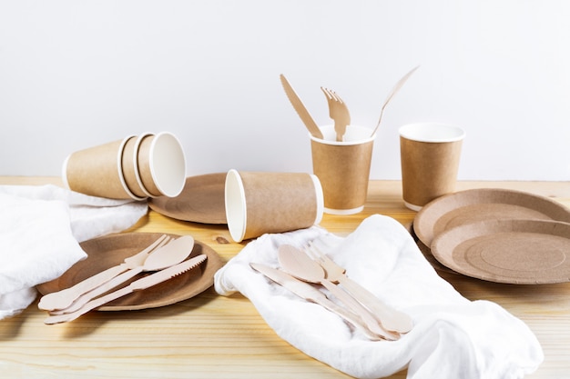
<svg viewBox="0 0 570 379"><path fill-rule="evenodd" d="M493 188L448 194L422 208L413 233L424 254L455 273L510 284L570 280L570 209L544 196Z"/></svg>

